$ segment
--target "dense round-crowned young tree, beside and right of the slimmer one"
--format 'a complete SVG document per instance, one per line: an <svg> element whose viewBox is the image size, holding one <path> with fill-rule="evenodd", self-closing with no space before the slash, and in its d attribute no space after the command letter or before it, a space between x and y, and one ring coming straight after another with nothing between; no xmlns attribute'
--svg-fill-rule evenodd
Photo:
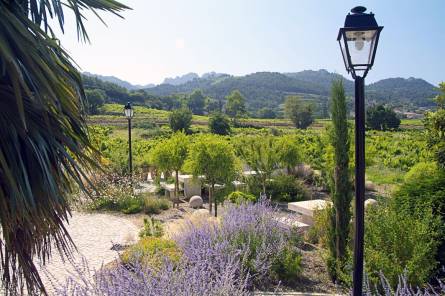
<svg viewBox="0 0 445 296"><path fill-rule="evenodd" d="M216 135L200 137L190 148L187 167L193 176L204 176L209 188L209 211L212 212L212 201L215 203L215 217L218 215L215 184L232 182L237 173L236 157L233 147Z"/></svg>

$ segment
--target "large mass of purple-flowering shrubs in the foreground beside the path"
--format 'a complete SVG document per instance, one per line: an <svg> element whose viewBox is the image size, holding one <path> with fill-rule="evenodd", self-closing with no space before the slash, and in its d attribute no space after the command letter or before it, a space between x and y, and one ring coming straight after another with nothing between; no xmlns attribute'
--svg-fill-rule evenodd
<svg viewBox="0 0 445 296"><path fill-rule="evenodd" d="M80 272L57 295L250 295L253 287L289 280L301 269L294 233L274 214L261 200L229 207L220 224L189 223L174 241L144 238L124 254L124 264L93 280ZM156 266L132 257L138 252L157 257Z"/></svg>

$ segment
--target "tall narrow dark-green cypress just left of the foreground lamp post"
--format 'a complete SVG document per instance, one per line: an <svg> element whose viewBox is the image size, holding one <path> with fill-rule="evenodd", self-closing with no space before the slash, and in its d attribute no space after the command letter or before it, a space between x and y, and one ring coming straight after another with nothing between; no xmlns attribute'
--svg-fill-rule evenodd
<svg viewBox="0 0 445 296"><path fill-rule="evenodd" d="M337 279L347 261L346 248L351 220L352 184L349 175L349 134L345 90L341 80L332 83L331 91L332 130L330 144L334 148L333 182L331 183L332 211L330 253L332 276Z"/></svg>

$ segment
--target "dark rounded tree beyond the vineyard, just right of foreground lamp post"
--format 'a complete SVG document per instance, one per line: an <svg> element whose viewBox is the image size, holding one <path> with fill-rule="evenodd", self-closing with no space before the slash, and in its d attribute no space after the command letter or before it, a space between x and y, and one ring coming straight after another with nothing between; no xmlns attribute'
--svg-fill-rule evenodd
<svg viewBox="0 0 445 296"><path fill-rule="evenodd" d="M384 105L368 107L366 110L366 127L373 130L394 130L400 126L397 114Z"/></svg>

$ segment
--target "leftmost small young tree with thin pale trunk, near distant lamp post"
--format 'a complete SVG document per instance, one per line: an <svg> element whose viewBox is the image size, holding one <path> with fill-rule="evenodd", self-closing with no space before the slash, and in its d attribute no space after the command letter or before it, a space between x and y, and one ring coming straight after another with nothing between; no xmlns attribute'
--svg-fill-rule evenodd
<svg viewBox="0 0 445 296"><path fill-rule="evenodd" d="M187 158L189 141L182 132L175 133L153 148L151 158L153 164L162 172L175 172L175 202L179 202L179 171Z"/></svg>

